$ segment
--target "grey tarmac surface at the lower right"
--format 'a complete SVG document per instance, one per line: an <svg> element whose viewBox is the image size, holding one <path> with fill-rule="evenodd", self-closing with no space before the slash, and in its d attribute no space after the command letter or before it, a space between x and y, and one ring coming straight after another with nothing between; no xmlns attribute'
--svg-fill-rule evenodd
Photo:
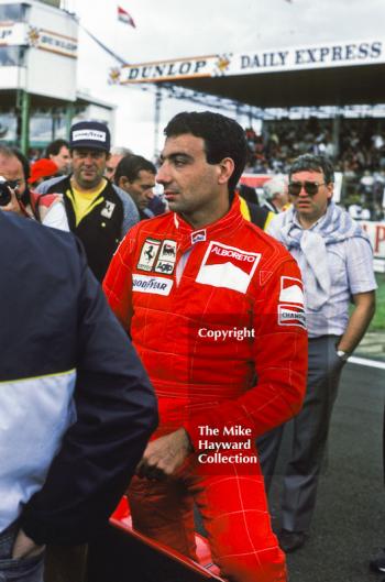
<svg viewBox="0 0 385 582"><path fill-rule="evenodd" d="M365 355L365 350L358 355ZM300 550L287 557L289 582L385 579L385 574L369 570L370 558L385 547L383 366L348 363L343 370L310 537ZM280 472L289 438L287 431L278 463ZM274 528L279 527L279 481L277 475L271 494Z"/></svg>

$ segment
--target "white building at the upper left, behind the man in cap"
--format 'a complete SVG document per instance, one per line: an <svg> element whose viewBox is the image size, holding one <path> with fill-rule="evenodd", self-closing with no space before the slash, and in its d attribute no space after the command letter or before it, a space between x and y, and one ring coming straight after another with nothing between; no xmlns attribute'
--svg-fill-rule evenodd
<svg viewBox="0 0 385 582"><path fill-rule="evenodd" d="M59 4L0 0L0 140L31 156L73 120L113 125L114 106L76 88L78 23Z"/></svg>

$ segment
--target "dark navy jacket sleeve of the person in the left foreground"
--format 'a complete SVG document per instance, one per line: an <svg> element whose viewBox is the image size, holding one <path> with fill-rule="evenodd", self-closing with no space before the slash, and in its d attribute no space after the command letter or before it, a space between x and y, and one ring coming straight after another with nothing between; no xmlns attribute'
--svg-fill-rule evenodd
<svg viewBox="0 0 385 582"><path fill-rule="evenodd" d="M85 259L78 321L77 419L22 515L22 529L36 543L76 545L95 535L156 426L148 378Z"/></svg>

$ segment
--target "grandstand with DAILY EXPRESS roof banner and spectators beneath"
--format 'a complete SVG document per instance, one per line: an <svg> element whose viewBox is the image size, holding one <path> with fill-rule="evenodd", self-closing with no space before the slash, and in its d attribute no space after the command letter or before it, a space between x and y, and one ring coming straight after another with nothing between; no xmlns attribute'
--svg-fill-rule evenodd
<svg viewBox="0 0 385 582"><path fill-rule="evenodd" d="M376 266L385 271L384 74L385 42L374 37L125 64L111 80L155 85L157 108L163 91L248 111L249 175L285 173L306 152L332 157L342 176L341 202L355 202L370 218L364 226Z"/></svg>

